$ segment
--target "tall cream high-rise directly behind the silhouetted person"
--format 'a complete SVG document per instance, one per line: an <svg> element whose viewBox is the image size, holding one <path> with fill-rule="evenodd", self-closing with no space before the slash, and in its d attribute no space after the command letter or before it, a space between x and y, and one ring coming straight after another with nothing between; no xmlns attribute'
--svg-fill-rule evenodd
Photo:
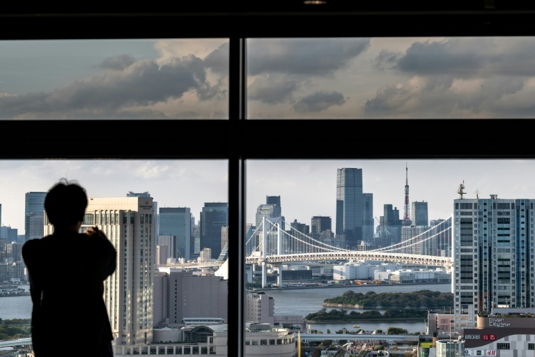
<svg viewBox="0 0 535 357"><path fill-rule="evenodd" d="M117 346L152 342L153 214L151 197L88 198L82 231L98 226L117 251L116 271L104 281L104 302ZM52 234L46 216L45 223L45 233Z"/></svg>

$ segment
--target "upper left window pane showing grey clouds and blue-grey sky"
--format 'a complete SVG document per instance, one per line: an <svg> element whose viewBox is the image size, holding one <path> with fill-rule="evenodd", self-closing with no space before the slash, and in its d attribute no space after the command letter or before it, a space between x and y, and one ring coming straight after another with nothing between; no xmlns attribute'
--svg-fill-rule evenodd
<svg viewBox="0 0 535 357"><path fill-rule="evenodd" d="M228 39L0 41L0 119L228 119Z"/></svg>

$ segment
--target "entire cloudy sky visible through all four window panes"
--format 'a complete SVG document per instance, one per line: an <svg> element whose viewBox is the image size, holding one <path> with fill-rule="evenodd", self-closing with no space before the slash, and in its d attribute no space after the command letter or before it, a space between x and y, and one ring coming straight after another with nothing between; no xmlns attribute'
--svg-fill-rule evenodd
<svg viewBox="0 0 535 357"><path fill-rule="evenodd" d="M257 38L247 40L248 119L529 118L535 37ZM2 40L0 120L228 119L228 40ZM281 132L281 135L291 133ZM377 135L380 135L378 133ZM247 162L247 221L281 196L286 222L335 221L336 169L363 169L373 215L428 202L447 218L467 197L535 198L533 161L343 160ZM65 177L93 197L150 192L160 207L226 202L221 161L4 160L2 224L24 227L24 193Z"/></svg>

